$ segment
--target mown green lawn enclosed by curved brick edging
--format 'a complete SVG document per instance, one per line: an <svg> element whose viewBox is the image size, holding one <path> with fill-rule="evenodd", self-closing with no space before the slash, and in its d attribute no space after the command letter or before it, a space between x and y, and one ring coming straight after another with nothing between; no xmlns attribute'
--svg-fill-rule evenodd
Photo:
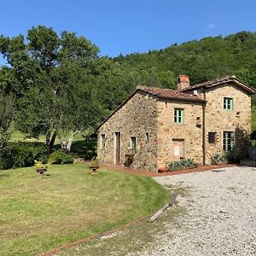
<svg viewBox="0 0 256 256"><path fill-rule="evenodd" d="M169 193L150 177L83 164L0 172L0 255L32 255L141 218Z"/></svg>

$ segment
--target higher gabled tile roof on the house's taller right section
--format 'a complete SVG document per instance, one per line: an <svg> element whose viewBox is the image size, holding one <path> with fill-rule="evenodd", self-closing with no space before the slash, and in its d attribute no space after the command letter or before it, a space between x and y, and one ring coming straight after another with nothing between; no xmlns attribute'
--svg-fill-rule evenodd
<svg viewBox="0 0 256 256"><path fill-rule="evenodd" d="M217 86L218 84L226 84L226 83L234 83L238 85L242 90L247 91L249 94L255 94L256 90L249 86L248 84L245 84L244 82L241 82L239 79L236 78L236 76L227 76L220 79L212 79L207 82L201 83L201 84L194 84L190 85L188 88L184 88L183 90L179 90L181 92L186 92L189 90L196 90L201 88L211 88L214 86Z"/></svg>

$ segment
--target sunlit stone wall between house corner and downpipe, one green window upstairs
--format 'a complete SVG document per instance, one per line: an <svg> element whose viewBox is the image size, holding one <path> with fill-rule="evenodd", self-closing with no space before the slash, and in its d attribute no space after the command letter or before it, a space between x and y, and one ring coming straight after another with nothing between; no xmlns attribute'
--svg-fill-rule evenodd
<svg viewBox="0 0 256 256"><path fill-rule="evenodd" d="M183 108L183 124L174 122L174 108ZM202 103L159 100L157 109L158 167L180 156L202 164Z"/></svg>

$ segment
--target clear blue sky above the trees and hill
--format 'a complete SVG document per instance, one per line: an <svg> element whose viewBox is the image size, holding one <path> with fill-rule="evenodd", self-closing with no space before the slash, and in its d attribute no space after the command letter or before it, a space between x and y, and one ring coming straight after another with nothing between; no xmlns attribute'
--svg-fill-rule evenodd
<svg viewBox="0 0 256 256"><path fill-rule="evenodd" d="M255 0L0 0L0 34L51 26L89 38L101 55L164 49L193 39L256 31Z"/></svg>

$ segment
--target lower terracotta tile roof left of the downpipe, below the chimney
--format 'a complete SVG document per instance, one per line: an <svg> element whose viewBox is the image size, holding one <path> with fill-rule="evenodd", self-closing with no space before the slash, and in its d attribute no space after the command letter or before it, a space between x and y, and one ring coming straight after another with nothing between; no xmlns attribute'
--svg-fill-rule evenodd
<svg viewBox="0 0 256 256"><path fill-rule="evenodd" d="M145 85L137 85L136 89L143 90L159 98L177 99L177 100L192 101L192 102L206 102L206 100L201 99L198 96L184 93L179 90L162 89L158 87L148 87Z"/></svg>

